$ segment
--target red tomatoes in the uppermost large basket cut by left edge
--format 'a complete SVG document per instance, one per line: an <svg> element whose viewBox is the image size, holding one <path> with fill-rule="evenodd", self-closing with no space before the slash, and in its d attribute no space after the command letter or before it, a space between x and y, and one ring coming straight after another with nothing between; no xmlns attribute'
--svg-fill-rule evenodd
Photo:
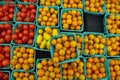
<svg viewBox="0 0 120 80"><path fill-rule="evenodd" d="M0 21L12 21L14 17L14 4L0 5Z"/></svg>

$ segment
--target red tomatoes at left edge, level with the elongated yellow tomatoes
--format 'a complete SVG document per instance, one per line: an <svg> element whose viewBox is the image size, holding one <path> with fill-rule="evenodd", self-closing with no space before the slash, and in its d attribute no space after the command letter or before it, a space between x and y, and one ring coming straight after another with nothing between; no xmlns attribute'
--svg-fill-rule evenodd
<svg viewBox="0 0 120 80"><path fill-rule="evenodd" d="M12 37L12 25L0 24L0 44L10 43Z"/></svg>

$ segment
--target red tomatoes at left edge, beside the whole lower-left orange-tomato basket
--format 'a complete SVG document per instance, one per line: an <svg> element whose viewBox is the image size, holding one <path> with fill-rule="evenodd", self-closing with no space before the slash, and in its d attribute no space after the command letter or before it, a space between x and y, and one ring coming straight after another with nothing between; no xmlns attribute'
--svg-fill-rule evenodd
<svg viewBox="0 0 120 80"><path fill-rule="evenodd" d="M10 64L10 46L0 46L0 68ZM1 80L1 79L0 79Z"/></svg>

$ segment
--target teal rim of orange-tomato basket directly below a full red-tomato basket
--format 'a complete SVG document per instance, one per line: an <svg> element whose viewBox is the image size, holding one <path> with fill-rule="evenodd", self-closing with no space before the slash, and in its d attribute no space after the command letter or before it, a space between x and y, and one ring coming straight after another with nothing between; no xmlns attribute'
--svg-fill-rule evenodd
<svg viewBox="0 0 120 80"><path fill-rule="evenodd" d="M10 57L11 60L12 60L12 57L14 56L14 55L13 55L13 51L14 51L14 49L17 48L17 47L25 47L25 48L33 48L33 49L34 49L34 67L28 70L28 71L33 71L33 70L35 69L35 62L36 62L36 51L35 51L35 48L34 48L34 47L28 47L28 46L13 46L13 47L12 47L12 50L11 50L11 57ZM11 69L11 70L16 70L16 69L13 69L13 68L12 68L12 64L11 64L11 63L10 63L10 69ZM18 70L18 71L26 71L26 70L20 69L20 70Z"/></svg>

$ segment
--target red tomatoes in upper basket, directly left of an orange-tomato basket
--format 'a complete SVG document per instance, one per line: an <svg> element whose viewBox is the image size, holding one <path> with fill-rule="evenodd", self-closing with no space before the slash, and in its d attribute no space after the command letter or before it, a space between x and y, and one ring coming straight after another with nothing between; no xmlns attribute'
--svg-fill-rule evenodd
<svg viewBox="0 0 120 80"><path fill-rule="evenodd" d="M34 22L36 16L36 6L34 4L18 4L18 12L16 21L18 22Z"/></svg>

